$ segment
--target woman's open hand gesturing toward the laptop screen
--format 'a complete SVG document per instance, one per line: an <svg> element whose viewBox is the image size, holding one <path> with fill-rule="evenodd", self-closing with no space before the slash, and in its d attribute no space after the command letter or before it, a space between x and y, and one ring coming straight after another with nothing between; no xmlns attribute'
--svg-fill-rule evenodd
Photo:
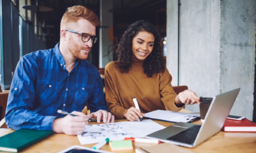
<svg viewBox="0 0 256 153"><path fill-rule="evenodd" d="M175 104L177 106L182 104L200 104L200 98L197 97L194 91L185 90L179 93L175 98Z"/></svg>

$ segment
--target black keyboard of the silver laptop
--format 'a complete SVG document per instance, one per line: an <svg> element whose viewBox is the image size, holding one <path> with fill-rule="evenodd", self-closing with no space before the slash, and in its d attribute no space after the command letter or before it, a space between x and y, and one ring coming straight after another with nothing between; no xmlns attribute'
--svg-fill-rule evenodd
<svg viewBox="0 0 256 153"><path fill-rule="evenodd" d="M195 141L195 138L199 132L200 127L201 127L201 125L194 125L180 133L177 133L177 134L167 138L167 140L182 142L182 143L186 143L186 144L192 144Z"/></svg>

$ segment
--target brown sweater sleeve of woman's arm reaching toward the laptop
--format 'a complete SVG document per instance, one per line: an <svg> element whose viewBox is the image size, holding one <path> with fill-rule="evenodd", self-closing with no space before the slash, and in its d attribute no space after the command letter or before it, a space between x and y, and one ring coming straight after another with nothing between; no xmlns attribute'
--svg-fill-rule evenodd
<svg viewBox="0 0 256 153"><path fill-rule="evenodd" d="M166 110L179 111L185 105L183 105L183 107L177 107L175 105L175 97L177 96L177 94L173 90L171 81L172 81L172 76L170 75L169 71L165 67L165 71L163 73L160 73L160 80L159 80L161 101L164 103Z"/></svg>

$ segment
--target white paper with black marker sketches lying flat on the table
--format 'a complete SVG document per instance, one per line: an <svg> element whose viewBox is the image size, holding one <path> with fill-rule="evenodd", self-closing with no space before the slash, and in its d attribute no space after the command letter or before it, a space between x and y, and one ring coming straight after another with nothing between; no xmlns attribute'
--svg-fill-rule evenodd
<svg viewBox="0 0 256 153"><path fill-rule="evenodd" d="M77 135L81 145L98 143L108 137L110 141L124 140L125 137L145 137L165 127L147 119L140 122L116 122L87 125L82 134Z"/></svg>

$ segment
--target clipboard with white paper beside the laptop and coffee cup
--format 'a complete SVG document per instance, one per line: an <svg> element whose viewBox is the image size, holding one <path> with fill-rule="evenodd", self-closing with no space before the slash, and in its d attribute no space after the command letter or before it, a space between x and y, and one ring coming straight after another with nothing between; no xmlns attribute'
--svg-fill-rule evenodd
<svg viewBox="0 0 256 153"><path fill-rule="evenodd" d="M145 118L168 121L168 122L192 122L200 119L199 114L180 113L167 110L155 110L145 113Z"/></svg>

